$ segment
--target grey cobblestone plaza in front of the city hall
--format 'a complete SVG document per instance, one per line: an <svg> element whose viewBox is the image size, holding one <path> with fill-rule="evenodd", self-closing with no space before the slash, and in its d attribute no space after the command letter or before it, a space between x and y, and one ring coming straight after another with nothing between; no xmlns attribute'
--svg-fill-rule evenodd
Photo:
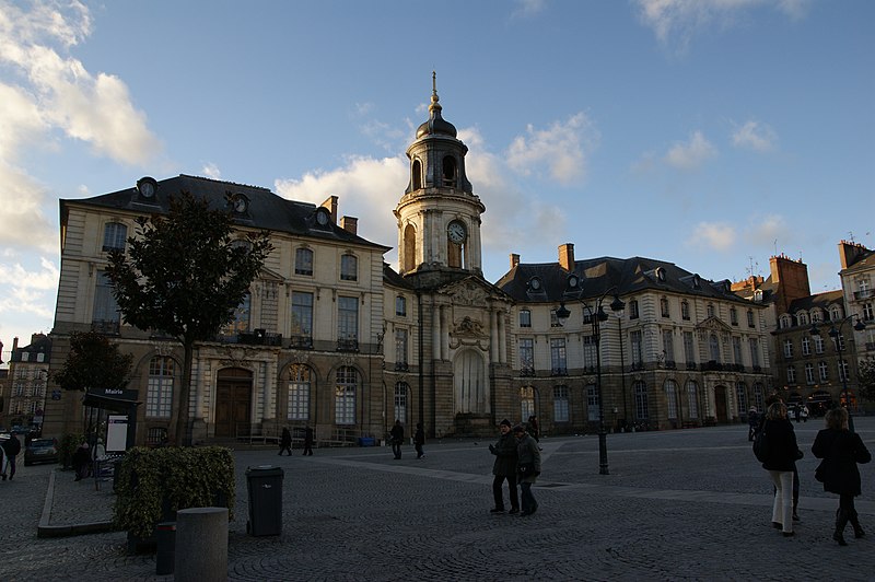
<svg viewBox="0 0 875 582"><path fill-rule="evenodd" d="M875 418L855 418L875 449ZM236 451L230 580L873 580L875 465L861 466L864 539L831 539L836 496L814 480L820 420L794 424L805 457L796 535L770 524L771 484L747 427L541 439L532 516L490 515L486 441L428 442L395 461L387 447L319 449L311 457ZM246 468L284 469L280 536L246 533ZM21 464L20 464L21 465ZM50 478L51 474L54 478ZM73 482L57 466L19 467L0 484L2 580L171 580L154 556L128 556L124 532L37 538L37 525L108 520L109 484ZM850 529L848 531L850 534Z"/></svg>

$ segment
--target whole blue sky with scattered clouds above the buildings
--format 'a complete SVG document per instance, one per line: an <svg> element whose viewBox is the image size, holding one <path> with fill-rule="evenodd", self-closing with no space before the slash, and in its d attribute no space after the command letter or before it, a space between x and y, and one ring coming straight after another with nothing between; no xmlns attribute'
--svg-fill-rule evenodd
<svg viewBox="0 0 875 582"><path fill-rule="evenodd" d="M714 280L785 254L820 292L875 246L867 0L0 0L3 359L51 329L59 198L202 175L397 246L432 70L491 281L571 242Z"/></svg>

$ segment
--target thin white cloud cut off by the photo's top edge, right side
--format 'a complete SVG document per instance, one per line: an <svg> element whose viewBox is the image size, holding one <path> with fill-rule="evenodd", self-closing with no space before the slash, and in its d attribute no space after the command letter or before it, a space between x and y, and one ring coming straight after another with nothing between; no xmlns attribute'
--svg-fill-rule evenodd
<svg viewBox="0 0 875 582"><path fill-rule="evenodd" d="M684 48L690 38L712 27L728 28L745 11L775 8L792 20L804 18L810 0L634 0L639 16L664 44Z"/></svg>

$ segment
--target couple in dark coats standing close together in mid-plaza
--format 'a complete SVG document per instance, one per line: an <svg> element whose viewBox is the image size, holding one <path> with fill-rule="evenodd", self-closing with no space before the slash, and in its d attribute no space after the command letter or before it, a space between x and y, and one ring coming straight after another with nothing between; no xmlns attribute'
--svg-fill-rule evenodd
<svg viewBox="0 0 875 582"><path fill-rule="evenodd" d="M495 463L492 465L492 496L495 499L495 507L490 513L504 513L504 496L502 484L508 480L511 498L510 513L520 515L532 515L538 509L538 502L532 494L532 485L540 475L540 450L538 443L526 432L523 424L516 424L511 429L511 421L506 418L499 424L501 434L499 441L489 445L489 452L495 455ZM520 500L517 498L516 484L522 490L522 513L520 512Z"/></svg>

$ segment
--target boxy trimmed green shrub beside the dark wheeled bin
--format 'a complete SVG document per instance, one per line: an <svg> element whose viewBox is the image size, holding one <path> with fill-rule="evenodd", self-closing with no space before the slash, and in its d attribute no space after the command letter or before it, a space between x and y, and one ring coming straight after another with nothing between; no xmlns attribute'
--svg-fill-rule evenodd
<svg viewBox="0 0 875 582"><path fill-rule="evenodd" d="M125 455L116 481L113 520L141 538L188 508L234 509L234 457L230 449L135 447Z"/></svg>

